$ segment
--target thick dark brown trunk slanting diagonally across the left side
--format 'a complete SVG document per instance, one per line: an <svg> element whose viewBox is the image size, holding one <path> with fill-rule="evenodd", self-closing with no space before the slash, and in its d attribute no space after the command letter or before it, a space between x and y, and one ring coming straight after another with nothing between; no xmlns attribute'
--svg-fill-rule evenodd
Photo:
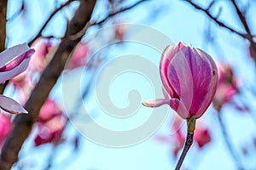
<svg viewBox="0 0 256 170"><path fill-rule="evenodd" d="M96 0L80 0L78 10L73 16L73 19L67 27L67 37L79 32L86 23L90 20ZM79 43L81 38L71 41L68 38L63 38L59 48L55 51L53 59L49 62L46 69L36 87L33 89L30 98L26 102L26 110L30 113L28 115L18 115L15 117L14 127L8 139L3 144L3 149L0 156L0 169L9 170L18 159L18 153L23 142L28 137L32 124L38 117L45 99L48 98L51 88L54 87L55 82L63 71L68 56L71 54L75 46Z"/></svg>

